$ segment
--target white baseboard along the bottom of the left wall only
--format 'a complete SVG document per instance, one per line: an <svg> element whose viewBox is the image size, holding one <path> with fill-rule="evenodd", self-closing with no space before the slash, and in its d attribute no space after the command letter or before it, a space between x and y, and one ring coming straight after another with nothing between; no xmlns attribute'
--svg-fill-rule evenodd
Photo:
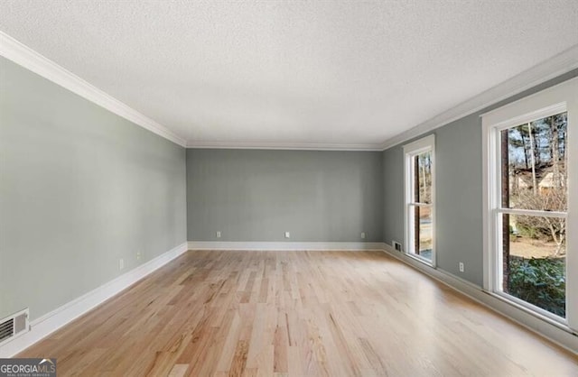
<svg viewBox="0 0 578 377"><path fill-rule="evenodd" d="M102 302L115 296L121 290L125 290L136 281L143 279L146 275L171 262L173 259L187 251L187 243L180 244L163 253L149 262L145 262L134 270L110 280L95 290L80 296L78 299L62 305L60 308L52 310L42 317L34 319L29 332L22 336L17 336L13 340L0 346L0 358L13 357L24 349L38 342L45 336L49 336L54 331L68 324L70 321L82 316L90 309L95 308Z"/></svg>

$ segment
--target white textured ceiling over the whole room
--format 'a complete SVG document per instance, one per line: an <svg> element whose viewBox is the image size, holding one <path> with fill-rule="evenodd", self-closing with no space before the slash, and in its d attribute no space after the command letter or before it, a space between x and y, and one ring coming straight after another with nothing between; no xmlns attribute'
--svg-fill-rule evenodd
<svg viewBox="0 0 578 377"><path fill-rule="evenodd" d="M575 0L0 0L0 31L197 145L376 146L577 25Z"/></svg>

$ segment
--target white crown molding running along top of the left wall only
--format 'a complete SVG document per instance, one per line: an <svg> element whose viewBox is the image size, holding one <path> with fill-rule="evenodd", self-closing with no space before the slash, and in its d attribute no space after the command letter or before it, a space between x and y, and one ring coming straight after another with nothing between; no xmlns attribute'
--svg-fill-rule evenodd
<svg viewBox="0 0 578 377"><path fill-rule="evenodd" d="M164 127L162 124L154 122L149 117L137 112L135 109L120 102L114 97L107 95L107 93L89 84L87 81L79 78L69 70L62 68L54 61L49 60L33 51L23 43L16 41L5 32L0 32L0 55L14 63L29 69L34 73L51 80L53 83L65 87L71 92L84 97L89 101L104 107L108 111L122 116L141 127L153 133L170 140L172 143L177 143L182 147L186 146L186 141L180 136L172 133L171 130Z"/></svg>

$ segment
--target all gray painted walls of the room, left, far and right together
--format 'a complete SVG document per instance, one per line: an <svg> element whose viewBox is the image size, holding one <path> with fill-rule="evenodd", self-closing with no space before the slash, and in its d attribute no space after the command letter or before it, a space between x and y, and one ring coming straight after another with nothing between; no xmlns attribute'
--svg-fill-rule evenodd
<svg viewBox="0 0 578 377"><path fill-rule="evenodd" d="M434 131L440 269L481 285L479 115L576 76ZM218 230L220 241L404 242L401 145L185 152L1 57L0 85L0 317L41 317Z"/></svg>

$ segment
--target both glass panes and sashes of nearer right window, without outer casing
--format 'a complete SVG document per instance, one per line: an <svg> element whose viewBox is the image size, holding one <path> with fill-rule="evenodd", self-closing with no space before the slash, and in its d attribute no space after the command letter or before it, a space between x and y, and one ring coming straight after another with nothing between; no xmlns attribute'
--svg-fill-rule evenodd
<svg viewBox="0 0 578 377"><path fill-rule="evenodd" d="M500 292L566 317L566 112L499 131Z"/></svg>

